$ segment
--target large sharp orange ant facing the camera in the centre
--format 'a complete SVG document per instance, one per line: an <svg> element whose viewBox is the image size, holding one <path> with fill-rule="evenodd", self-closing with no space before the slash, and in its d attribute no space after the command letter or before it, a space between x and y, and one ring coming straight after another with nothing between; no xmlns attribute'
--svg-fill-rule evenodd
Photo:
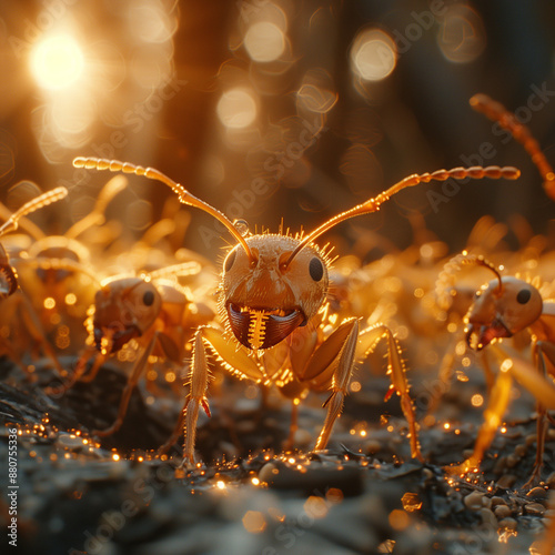
<svg viewBox="0 0 555 555"><path fill-rule="evenodd" d="M517 179L512 167L473 167L413 174L373 199L334 215L305 235L250 234L244 222L232 222L223 213L198 199L182 185L152 168L115 160L77 158L75 168L121 171L161 181L170 186L183 204L208 212L229 230L238 244L223 263L219 290L219 312L224 329L206 325L193 339L193 356L189 374L190 390L170 446L185 430L183 464L194 465L194 444L199 411L210 416L206 389L210 380L206 347L218 355L222 365L240 379L264 385L275 384L284 396L293 400L293 430L296 406L309 391L330 392L327 408L315 450L323 450L340 416L356 362L365 359L376 343L387 342L392 384L386 398L396 392L408 424L411 454L423 460L417 437L417 423L410 396L400 344L385 324L361 331L357 317L339 325L327 317L330 258L315 240L339 223L380 210L390 198L405 188L432 180ZM330 325L332 324L332 325ZM291 436L290 436L291 437Z"/></svg>

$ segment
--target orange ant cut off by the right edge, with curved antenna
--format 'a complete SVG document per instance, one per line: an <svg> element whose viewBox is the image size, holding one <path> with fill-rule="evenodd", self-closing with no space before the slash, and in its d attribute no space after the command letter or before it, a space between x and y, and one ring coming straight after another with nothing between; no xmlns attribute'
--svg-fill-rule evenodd
<svg viewBox="0 0 555 555"><path fill-rule="evenodd" d="M534 484L542 470L546 420L553 422L547 408L555 408L555 387L545 377L555 375L555 302L544 301L537 281L504 275L483 256L470 255L466 251L454 256L446 271L461 268L461 264L476 264L490 270L494 279L475 293L464 321L466 342L471 349L482 351L490 346L501 364L490 391L490 401L484 412L482 425L474 452L468 460L452 473L464 473L480 465L485 451L491 445L497 427L501 425L511 398L513 377L522 383L537 400L537 450L531 478L524 485ZM513 337L527 330L532 337L533 364L519 359L515 353L501 349L495 343L505 337Z"/></svg>

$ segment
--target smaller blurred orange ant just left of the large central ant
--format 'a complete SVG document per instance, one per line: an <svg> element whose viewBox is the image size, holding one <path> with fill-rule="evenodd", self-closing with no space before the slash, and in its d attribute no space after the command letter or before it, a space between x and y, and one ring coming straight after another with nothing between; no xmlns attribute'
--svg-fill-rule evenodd
<svg viewBox="0 0 555 555"><path fill-rule="evenodd" d="M170 280L170 276L175 280L178 275L196 274L200 268L199 262L191 261L140 276L113 278L95 292L85 323L91 345L81 354L70 380L52 392L64 393L78 381L92 382L107 359L132 340L138 344L138 352L115 421L105 430L93 431L93 435L108 436L121 427L131 394L152 355L180 364L192 330L212 320L213 312L208 306L193 303L185 289ZM92 366L84 375L91 356L94 357Z"/></svg>

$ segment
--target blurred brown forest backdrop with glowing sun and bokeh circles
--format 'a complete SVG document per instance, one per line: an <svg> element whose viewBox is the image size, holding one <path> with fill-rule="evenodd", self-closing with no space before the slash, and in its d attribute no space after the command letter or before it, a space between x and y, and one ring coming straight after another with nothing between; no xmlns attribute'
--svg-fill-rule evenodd
<svg viewBox="0 0 555 555"><path fill-rule="evenodd" d="M554 47L552 0L0 0L0 200L63 184L56 218L37 214L63 231L108 180L72 159L114 158L251 230L310 231L414 172L511 164L517 182L422 185L321 242L402 249L425 225L456 251L484 214L547 233L538 173L468 99L516 110L555 164ZM172 193L131 179L110 210L140 236ZM186 246L213 259L229 236L184 210Z"/></svg>

